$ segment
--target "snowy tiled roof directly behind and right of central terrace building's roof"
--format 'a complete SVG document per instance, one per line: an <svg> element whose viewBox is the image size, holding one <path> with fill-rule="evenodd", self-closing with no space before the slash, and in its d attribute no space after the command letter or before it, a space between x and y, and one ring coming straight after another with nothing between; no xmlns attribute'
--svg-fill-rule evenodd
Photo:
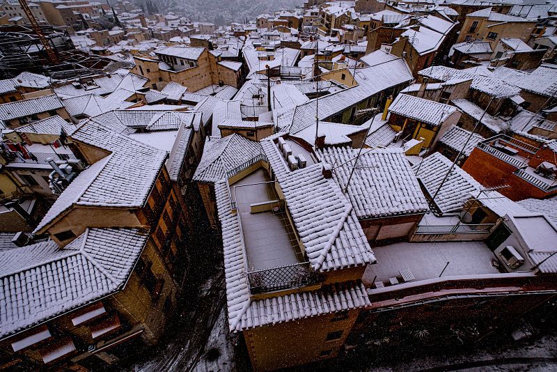
<svg viewBox="0 0 557 372"><path fill-rule="evenodd" d="M336 166L333 178L344 189L358 150L324 148L318 153ZM400 148L366 149L361 153L347 190L359 219L426 212L427 201Z"/></svg>

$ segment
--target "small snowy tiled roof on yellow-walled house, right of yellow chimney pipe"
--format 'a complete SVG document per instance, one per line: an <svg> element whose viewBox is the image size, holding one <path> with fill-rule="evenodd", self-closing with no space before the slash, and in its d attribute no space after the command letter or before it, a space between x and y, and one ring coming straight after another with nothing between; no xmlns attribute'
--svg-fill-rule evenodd
<svg viewBox="0 0 557 372"><path fill-rule="evenodd" d="M389 106L389 112L393 114L413 118L436 127L446 121L455 111L457 109L454 106L450 106L450 104L425 100L407 94L397 95L391 106Z"/></svg>

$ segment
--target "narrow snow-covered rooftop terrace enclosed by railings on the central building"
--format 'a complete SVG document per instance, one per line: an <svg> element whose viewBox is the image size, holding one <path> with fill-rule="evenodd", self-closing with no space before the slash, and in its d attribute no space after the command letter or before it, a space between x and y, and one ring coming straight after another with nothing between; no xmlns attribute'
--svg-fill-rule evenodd
<svg viewBox="0 0 557 372"><path fill-rule="evenodd" d="M244 171L258 161L246 162L234 172ZM228 177L234 172L230 171ZM231 206L240 224L251 294L316 284L317 274L304 256L285 202L278 196L267 170L253 171L229 189Z"/></svg>

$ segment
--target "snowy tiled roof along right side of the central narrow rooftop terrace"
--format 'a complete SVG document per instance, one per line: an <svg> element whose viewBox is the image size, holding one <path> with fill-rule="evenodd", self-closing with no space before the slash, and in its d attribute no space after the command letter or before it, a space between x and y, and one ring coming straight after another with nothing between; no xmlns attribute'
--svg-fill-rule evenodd
<svg viewBox="0 0 557 372"><path fill-rule="evenodd" d="M317 163L290 172L271 139L262 141L292 221L314 270L338 270L375 262L354 208Z"/></svg>

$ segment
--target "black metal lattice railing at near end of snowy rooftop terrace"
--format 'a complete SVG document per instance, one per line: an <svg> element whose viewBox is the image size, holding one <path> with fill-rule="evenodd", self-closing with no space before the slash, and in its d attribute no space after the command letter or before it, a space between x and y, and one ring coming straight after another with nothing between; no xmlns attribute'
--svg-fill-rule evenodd
<svg viewBox="0 0 557 372"><path fill-rule="evenodd" d="M297 288L316 284L319 275L308 262L262 270L247 271L249 289L252 294Z"/></svg>

